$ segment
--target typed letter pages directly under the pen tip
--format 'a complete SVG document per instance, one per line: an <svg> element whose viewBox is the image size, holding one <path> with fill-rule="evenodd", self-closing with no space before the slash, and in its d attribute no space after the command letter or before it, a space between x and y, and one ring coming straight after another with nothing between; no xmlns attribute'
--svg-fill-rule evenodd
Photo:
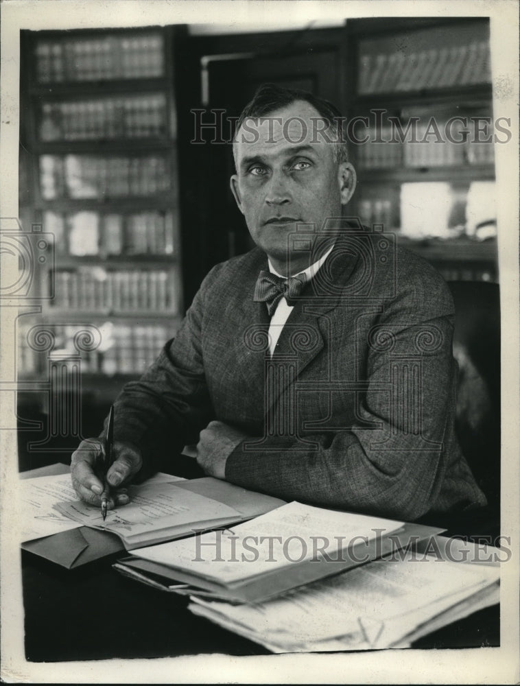
<svg viewBox="0 0 520 686"><path fill-rule="evenodd" d="M128 494L130 503L109 510L106 521L101 510L77 499L58 503L56 509L82 525L117 534L128 550L244 519L234 508L174 483L130 486Z"/></svg>

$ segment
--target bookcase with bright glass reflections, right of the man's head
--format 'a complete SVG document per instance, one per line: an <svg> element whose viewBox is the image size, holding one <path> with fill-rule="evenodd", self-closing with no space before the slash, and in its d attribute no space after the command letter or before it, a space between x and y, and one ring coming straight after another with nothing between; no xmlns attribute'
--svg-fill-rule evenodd
<svg viewBox="0 0 520 686"><path fill-rule="evenodd" d="M348 214L396 232L447 280L498 281L488 21L359 19L345 31Z"/></svg>

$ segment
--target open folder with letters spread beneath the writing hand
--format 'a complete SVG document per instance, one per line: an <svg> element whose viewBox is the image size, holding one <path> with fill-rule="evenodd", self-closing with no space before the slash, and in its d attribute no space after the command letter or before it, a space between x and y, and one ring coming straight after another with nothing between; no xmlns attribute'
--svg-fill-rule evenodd
<svg viewBox="0 0 520 686"><path fill-rule="evenodd" d="M63 469L68 471L67 467ZM53 471L52 476L38 472L40 478L31 480L32 490L25 498L32 501L39 498L41 503L45 498L48 509L49 499L54 496L51 512L40 512L40 517L35 519L42 520L41 514L45 514L47 525L51 525L52 517L54 528L61 525L66 530L53 530L51 535L42 536L41 528L33 525L34 533L30 538L25 537L22 547L67 569L132 547L246 521L283 504L277 498L212 477L186 481L161 474L130 486L130 504L110 510L103 522L99 508L76 499L69 477ZM64 496L69 499L58 501ZM30 522L27 528L31 528Z"/></svg>

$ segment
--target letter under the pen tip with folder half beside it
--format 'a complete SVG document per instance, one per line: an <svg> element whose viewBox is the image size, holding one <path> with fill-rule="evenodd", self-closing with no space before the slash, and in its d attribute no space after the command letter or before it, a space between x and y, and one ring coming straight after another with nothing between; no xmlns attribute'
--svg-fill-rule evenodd
<svg viewBox="0 0 520 686"><path fill-rule="evenodd" d="M231 525L283 504L278 498L212 477L186 482L152 482L129 486L130 504L101 510L83 501L64 501L56 510L90 528L117 534L127 550L192 536L196 531Z"/></svg>

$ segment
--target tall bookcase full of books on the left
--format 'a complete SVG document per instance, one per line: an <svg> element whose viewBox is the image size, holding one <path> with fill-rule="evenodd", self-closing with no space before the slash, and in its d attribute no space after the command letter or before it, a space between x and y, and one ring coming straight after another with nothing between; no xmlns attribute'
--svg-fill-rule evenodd
<svg viewBox="0 0 520 686"><path fill-rule="evenodd" d="M22 375L45 375L35 322L73 351L83 388L139 377L182 316L174 27L22 32L20 216L54 235L43 311L19 319Z"/></svg>

